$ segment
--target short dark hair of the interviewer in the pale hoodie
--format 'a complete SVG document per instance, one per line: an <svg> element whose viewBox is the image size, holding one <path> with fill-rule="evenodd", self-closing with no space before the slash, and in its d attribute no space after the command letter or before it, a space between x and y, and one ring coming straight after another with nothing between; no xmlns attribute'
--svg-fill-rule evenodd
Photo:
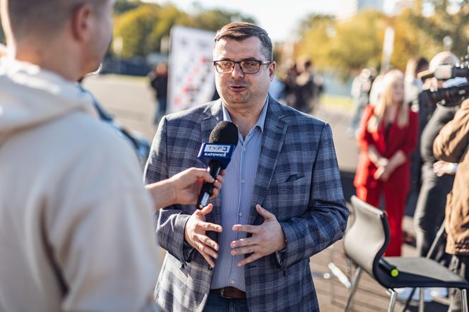
<svg viewBox="0 0 469 312"><path fill-rule="evenodd" d="M13 37L53 35L71 18L73 11L84 4L100 10L106 0L0 0L8 14ZM6 16L2 16L2 19Z"/></svg>

